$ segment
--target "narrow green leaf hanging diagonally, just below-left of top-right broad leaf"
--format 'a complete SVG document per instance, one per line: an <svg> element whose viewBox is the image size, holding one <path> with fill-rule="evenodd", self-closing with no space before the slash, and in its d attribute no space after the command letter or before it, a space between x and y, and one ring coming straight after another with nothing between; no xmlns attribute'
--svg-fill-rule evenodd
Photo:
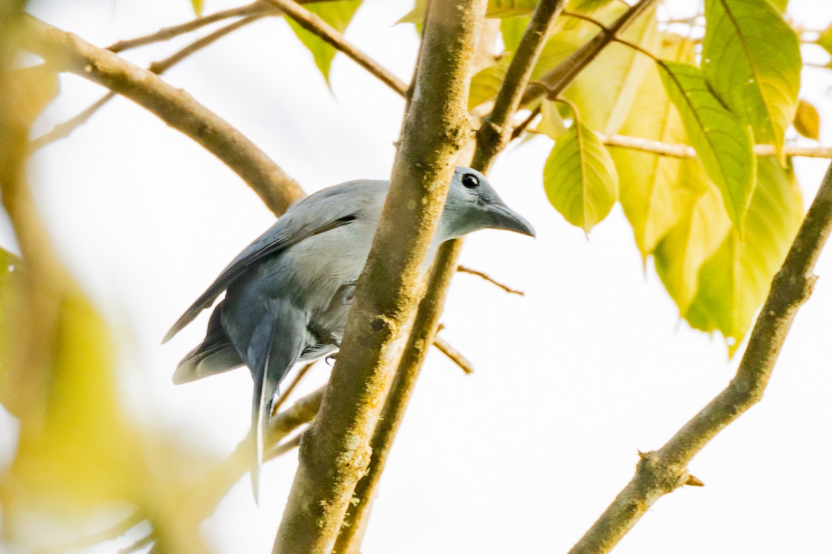
<svg viewBox="0 0 832 554"><path fill-rule="evenodd" d="M711 181L722 194L726 211L742 228L751 194L756 163L750 130L708 88L696 66L659 61L661 81L696 154Z"/></svg>

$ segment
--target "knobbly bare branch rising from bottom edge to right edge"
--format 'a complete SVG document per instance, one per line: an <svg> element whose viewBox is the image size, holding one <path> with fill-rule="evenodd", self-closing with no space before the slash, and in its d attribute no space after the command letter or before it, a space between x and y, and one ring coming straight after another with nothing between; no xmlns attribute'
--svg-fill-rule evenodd
<svg viewBox="0 0 832 554"><path fill-rule="evenodd" d="M572 548L571 554L610 552L662 495L684 484L701 483L696 478L691 479L687 463L716 434L762 398L795 314L810 297L816 279L812 271L830 231L832 165L783 266L771 282L769 296L730 385L661 449L641 453L635 477Z"/></svg>

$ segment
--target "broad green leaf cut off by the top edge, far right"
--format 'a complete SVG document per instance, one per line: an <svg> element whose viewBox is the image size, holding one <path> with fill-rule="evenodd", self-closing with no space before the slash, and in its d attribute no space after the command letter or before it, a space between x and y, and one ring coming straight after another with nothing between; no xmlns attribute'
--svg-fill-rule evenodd
<svg viewBox="0 0 832 554"><path fill-rule="evenodd" d="M708 86L775 146L785 164L785 130L800 90L800 42L767 0L706 0L702 71Z"/></svg>

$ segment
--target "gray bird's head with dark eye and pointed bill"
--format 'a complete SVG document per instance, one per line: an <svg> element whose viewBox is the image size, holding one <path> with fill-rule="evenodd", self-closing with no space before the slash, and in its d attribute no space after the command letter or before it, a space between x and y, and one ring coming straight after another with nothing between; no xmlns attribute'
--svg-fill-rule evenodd
<svg viewBox="0 0 832 554"><path fill-rule="evenodd" d="M535 236L532 224L503 203L485 175L467 167L454 171L440 226L444 240L487 228Z"/></svg>

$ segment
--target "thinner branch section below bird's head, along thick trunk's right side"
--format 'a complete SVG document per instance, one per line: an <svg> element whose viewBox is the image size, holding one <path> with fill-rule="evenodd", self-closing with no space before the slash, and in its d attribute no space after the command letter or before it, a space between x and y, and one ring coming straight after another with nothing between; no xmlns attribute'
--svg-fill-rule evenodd
<svg viewBox="0 0 832 554"><path fill-rule="evenodd" d="M448 294L448 284L457 267L462 245L462 241L450 241L439 248L428 282L428 293L418 306L408 346L404 349L404 355L396 369L393 385L390 387L379 423L375 427L373 440L370 442L373 452L372 463L355 487L354 505L344 516L344 525L338 542L335 543L334 554L359 552L381 473L384 472L393 441L404 419L410 396L413 395L416 379L430 350L433 336L436 335L439 317L442 316L445 297Z"/></svg>

